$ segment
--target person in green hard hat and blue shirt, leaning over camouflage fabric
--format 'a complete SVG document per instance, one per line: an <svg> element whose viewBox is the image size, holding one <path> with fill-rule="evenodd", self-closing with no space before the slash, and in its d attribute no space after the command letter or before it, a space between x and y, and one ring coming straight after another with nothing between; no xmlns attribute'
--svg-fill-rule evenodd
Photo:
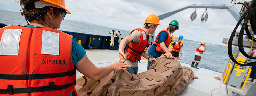
<svg viewBox="0 0 256 96"><path fill-rule="evenodd" d="M166 57L172 59L173 56L167 49L169 47L172 37L171 33L174 33L176 30L179 29L179 23L176 20L172 20L169 23L169 26L166 28L167 30L162 30L156 36L156 40L152 42L152 47L148 50L148 56L150 58L157 58L160 57L162 54L166 53ZM147 70L151 65L151 61L148 61Z"/></svg>

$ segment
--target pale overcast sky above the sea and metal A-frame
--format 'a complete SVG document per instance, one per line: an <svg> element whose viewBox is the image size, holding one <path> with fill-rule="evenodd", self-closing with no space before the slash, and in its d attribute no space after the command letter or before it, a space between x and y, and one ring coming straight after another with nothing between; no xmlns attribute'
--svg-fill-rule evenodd
<svg viewBox="0 0 256 96"><path fill-rule="evenodd" d="M242 0L236 0L238 1ZM146 17L150 14L159 16L191 4L229 6L230 3L231 0L65 0L66 8L71 14L67 14L64 20L79 20L131 31L142 28ZM241 6L237 4L234 8L239 12ZM0 0L0 9L20 12L20 5L15 3L15 0ZM194 11L194 8L185 9L161 20L162 26L158 26L155 35L162 29L166 29L170 21L177 20L180 29L176 30L173 36L183 35L184 39L226 45L222 43L223 36L217 32L229 38L237 23L234 17L226 9L207 9L208 21L202 23L200 18L205 8L197 8L197 17L192 22L190 15ZM217 29L217 32L214 29Z"/></svg>

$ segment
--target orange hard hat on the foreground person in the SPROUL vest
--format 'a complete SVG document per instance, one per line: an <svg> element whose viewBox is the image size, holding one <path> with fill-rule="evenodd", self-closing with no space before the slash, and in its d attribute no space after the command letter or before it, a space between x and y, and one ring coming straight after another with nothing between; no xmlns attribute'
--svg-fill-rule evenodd
<svg viewBox="0 0 256 96"><path fill-rule="evenodd" d="M67 14L71 14L66 8L65 8L65 0L42 0L51 4L54 4L56 6L59 6L62 9L65 9Z"/></svg>

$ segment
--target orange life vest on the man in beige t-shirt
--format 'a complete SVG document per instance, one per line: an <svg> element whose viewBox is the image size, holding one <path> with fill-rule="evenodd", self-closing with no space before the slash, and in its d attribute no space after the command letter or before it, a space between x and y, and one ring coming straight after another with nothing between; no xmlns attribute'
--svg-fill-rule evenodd
<svg viewBox="0 0 256 96"><path fill-rule="evenodd" d="M131 60L133 62L136 62L138 59L140 62L141 55L143 52L145 52L149 46L149 37L144 32L144 30L137 28L134 30L140 31L140 41L137 43L130 43L128 42L124 47L124 53L127 56L128 60ZM134 31L132 30L130 34ZM129 35L130 35L129 34Z"/></svg>

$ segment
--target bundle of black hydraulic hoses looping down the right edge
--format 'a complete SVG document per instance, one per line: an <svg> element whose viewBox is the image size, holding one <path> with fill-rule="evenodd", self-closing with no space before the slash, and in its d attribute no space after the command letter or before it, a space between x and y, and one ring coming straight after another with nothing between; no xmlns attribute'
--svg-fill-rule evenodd
<svg viewBox="0 0 256 96"><path fill-rule="evenodd" d="M255 0L254 0L255 1ZM255 6L255 3L256 2L253 2L252 3L252 5L253 6ZM255 62L250 62L250 63L247 63L247 64L241 64L241 63L239 63L239 62L237 62L236 60L235 60L235 58L233 57L233 54L232 54L232 41L233 41L233 37L235 36L235 33L236 33L236 29L238 28L238 26L239 26L239 24L242 22L242 20L245 18L245 16L246 15L248 15L248 12L252 12L252 11L249 11L249 10L251 10L252 9L252 5L249 7L249 9L248 10L246 10L245 12L244 12L244 15L241 17L241 19L237 22L237 24L236 24L236 27L234 28L234 30L233 30L233 32L231 33L231 36L230 36L230 38L229 38L229 41L228 41L228 56L229 56L229 58L234 62L234 63L236 63L236 64L238 64L238 65L240 65L240 66L252 66L252 65L256 65L256 61ZM255 7L253 7L254 8L254 10L255 10ZM250 18L250 17L249 17ZM248 18L246 18L246 19L248 19ZM244 20L245 22L247 22L246 21L246 19ZM247 24L247 23L246 23ZM244 25L244 24L243 24ZM244 26L242 27L242 28L244 28ZM241 28L241 30L242 30L242 28ZM244 33L244 29L243 29L243 31L240 31L240 33L239 34L241 34L241 32L242 32L242 34ZM240 35L239 35L240 36ZM241 36L243 36L243 35L241 35ZM238 42L239 42L239 39L238 39ZM243 48L243 41L242 41L242 44L238 44L238 47L241 47L242 46L242 48ZM241 49L239 47L239 50ZM243 50L244 51L244 49L241 49L241 50ZM240 50L240 51L241 51ZM246 54L246 53L245 53ZM247 54L246 54L247 55Z"/></svg>

